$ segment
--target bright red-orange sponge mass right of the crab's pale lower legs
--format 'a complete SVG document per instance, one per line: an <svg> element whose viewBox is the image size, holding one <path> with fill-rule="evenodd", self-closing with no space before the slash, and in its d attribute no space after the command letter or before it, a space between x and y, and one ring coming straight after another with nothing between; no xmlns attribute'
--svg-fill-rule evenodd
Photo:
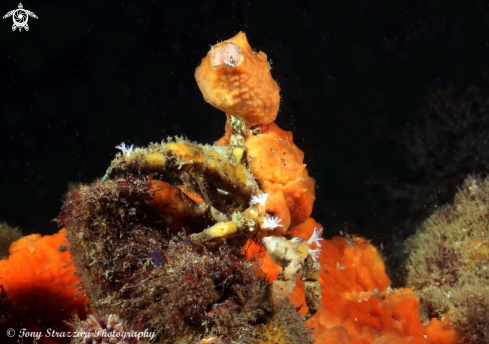
<svg viewBox="0 0 489 344"><path fill-rule="evenodd" d="M314 228L321 227L309 218L292 228L289 234L308 239ZM366 240L335 237L321 242L321 308L306 324L314 328L318 343L431 343L455 344L456 332L448 318L432 319L423 326L419 301L411 289L392 290L385 274L382 257ZM271 280L277 278L276 266L257 244L247 251L251 258L262 258L262 269ZM289 296L306 314L304 288L297 287Z"/></svg>

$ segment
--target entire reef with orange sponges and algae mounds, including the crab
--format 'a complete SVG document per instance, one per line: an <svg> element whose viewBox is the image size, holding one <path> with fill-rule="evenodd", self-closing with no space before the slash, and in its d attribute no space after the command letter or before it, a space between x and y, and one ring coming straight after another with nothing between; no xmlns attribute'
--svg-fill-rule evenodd
<svg viewBox="0 0 489 344"><path fill-rule="evenodd" d="M367 240L324 240L310 217L315 181L274 123L267 56L239 33L195 78L226 113L224 136L117 146L106 174L66 197L59 233L0 260L2 340L24 328L41 344L487 342L486 182L470 179L411 239L410 288L394 290Z"/></svg>

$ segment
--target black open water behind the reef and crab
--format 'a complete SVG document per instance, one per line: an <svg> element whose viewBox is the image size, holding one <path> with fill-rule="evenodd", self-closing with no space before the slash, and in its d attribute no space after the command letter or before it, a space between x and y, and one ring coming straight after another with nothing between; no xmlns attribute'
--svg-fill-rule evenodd
<svg viewBox="0 0 489 344"><path fill-rule="evenodd" d="M405 238L485 173L487 2L23 5L39 17L28 32L0 21L0 221L25 234L57 231L68 182L101 177L123 141L218 139L225 116L193 72L240 30L272 60L277 123L306 154L325 237L372 239L394 281Z"/></svg>

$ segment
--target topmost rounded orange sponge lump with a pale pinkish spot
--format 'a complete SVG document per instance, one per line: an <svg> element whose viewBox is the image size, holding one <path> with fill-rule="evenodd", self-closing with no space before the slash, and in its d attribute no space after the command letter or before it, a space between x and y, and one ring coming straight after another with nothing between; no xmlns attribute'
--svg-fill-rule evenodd
<svg viewBox="0 0 489 344"><path fill-rule="evenodd" d="M267 55L255 53L244 32L214 45L195 70L204 100L248 126L275 121L279 87Z"/></svg>

